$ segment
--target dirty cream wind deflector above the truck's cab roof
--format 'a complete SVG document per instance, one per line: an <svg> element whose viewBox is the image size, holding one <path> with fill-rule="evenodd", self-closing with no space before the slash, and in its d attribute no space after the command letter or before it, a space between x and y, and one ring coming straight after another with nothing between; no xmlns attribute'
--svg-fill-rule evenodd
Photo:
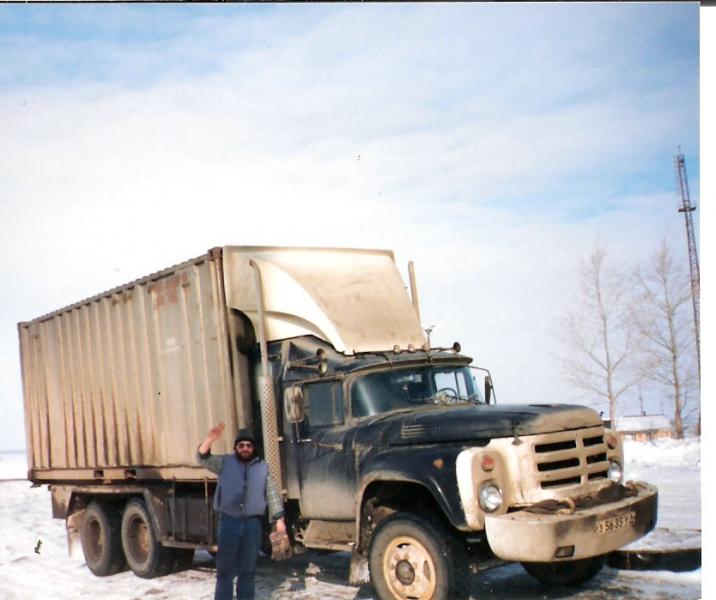
<svg viewBox="0 0 716 600"><path fill-rule="evenodd" d="M261 271L269 341L315 335L346 354L425 342L388 250L227 246L228 304L258 331L253 261Z"/></svg>

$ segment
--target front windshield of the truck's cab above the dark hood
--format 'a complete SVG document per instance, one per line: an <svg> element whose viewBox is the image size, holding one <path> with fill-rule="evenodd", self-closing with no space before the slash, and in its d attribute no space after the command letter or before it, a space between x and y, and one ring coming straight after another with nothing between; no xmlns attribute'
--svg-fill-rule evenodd
<svg viewBox="0 0 716 600"><path fill-rule="evenodd" d="M351 384L354 417L435 404L483 403L467 367L416 367L366 373Z"/></svg>

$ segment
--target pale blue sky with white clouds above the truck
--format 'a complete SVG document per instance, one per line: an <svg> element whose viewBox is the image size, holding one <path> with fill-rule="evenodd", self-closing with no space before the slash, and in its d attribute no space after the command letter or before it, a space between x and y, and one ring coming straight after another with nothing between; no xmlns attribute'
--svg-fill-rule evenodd
<svg viewBox="0 0 716 600"><path fill-rule="evenodd" d="M556 329L596 243L686 260L697 3L11 5L0 55L0 449L18 321L214 246L415 261L499 402L590 400Z"/></svg>

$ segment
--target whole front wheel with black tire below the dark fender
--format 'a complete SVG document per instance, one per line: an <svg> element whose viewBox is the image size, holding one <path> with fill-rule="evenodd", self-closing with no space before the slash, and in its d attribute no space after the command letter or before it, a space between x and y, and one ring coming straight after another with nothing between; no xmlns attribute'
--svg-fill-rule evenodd
<svg viewBox="0 0 716 600"><path fill-rule="evenodd" d="M381 600L446 600L469 591L461 541L440 523L410 513L396 513L378 525L368 568Z"/></svg>

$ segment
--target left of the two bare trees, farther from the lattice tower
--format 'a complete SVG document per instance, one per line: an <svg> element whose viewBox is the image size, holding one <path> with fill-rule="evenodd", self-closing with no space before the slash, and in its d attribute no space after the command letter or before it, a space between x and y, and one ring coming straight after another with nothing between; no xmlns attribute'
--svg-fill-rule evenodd
<svg viewBox="0 0 716 600"><path fill-rule="evenodd" d="M563 366L568 380L606 401L612 424L619 398L640 376L631 369L635 352L629 320L629 278L607 264L597 246L579 266L579 283L562 322L567 342Z"/></svg>

